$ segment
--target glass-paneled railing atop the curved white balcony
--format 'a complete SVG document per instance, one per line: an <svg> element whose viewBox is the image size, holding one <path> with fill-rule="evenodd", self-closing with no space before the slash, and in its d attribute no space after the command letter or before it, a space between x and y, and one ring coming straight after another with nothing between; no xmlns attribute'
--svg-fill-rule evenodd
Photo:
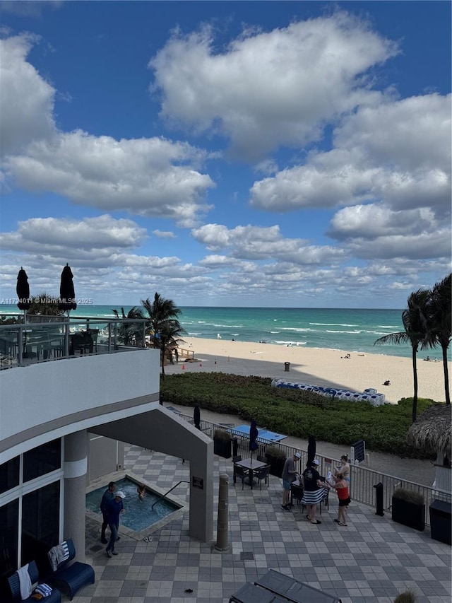
<svg viewBox="0 0 452 603"><path fill-rule="evenodd" d="M0 325L0 370L87 354L149 346L145 319L66 319L30 316L30 322Z"/></svg>

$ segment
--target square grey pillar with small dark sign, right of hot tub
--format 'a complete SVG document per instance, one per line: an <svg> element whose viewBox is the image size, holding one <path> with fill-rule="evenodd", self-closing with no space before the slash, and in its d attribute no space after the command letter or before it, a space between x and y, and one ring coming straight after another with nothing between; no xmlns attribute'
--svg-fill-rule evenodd
<svg viewBox="0 0 452 603"><path fill-rule="evenodd" d="M213 538L213 442L190 459L189 535L203 542Z"/></svg>

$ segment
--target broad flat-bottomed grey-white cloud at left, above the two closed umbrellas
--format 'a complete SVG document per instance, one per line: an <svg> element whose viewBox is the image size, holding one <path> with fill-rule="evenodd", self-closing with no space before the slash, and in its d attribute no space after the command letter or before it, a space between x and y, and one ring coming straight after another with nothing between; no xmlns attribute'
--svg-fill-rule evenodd
<svg viewBox="0 0 452 603"><path fill-rule="evenodd" d="M200 154L189 144L162 138L117 141L76 131L30 144L6 166L30 191L56 192L102 211L172 218L189 227L208 211L203 195L213 181L179 164L198 162Z"/></svg>

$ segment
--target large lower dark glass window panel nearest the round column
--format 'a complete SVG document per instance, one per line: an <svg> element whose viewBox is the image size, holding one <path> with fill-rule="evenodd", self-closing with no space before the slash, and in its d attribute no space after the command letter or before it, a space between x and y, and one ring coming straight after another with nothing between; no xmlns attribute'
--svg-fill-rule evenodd
<svg viewBox="0 0 452 603"><path fill-rule="evenodd" d="M36 560L38 568L47 561L47 551L59 542L60 482L54 481L23 496L21 565Z"/></svg>

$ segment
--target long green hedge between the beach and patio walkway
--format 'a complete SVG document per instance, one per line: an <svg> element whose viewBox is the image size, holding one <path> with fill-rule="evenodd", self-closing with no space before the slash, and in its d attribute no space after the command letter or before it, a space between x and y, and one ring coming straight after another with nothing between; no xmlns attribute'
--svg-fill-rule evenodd
<svg viewBox="0 0 452 603"><path fill-rule="evenodd" d="M307 439L312 433L317 440L346 446L365 440L368 450L432 458L405 442L411 425L411 398L403 398L398 404L371 406L270 384L266 377L227 373L166 375L160 382L160 397L172 404L199 404L201 409L236 414L244 421L254 418L258 425L297 438ZM419 399L418 414L433 402Z"/></svg>

